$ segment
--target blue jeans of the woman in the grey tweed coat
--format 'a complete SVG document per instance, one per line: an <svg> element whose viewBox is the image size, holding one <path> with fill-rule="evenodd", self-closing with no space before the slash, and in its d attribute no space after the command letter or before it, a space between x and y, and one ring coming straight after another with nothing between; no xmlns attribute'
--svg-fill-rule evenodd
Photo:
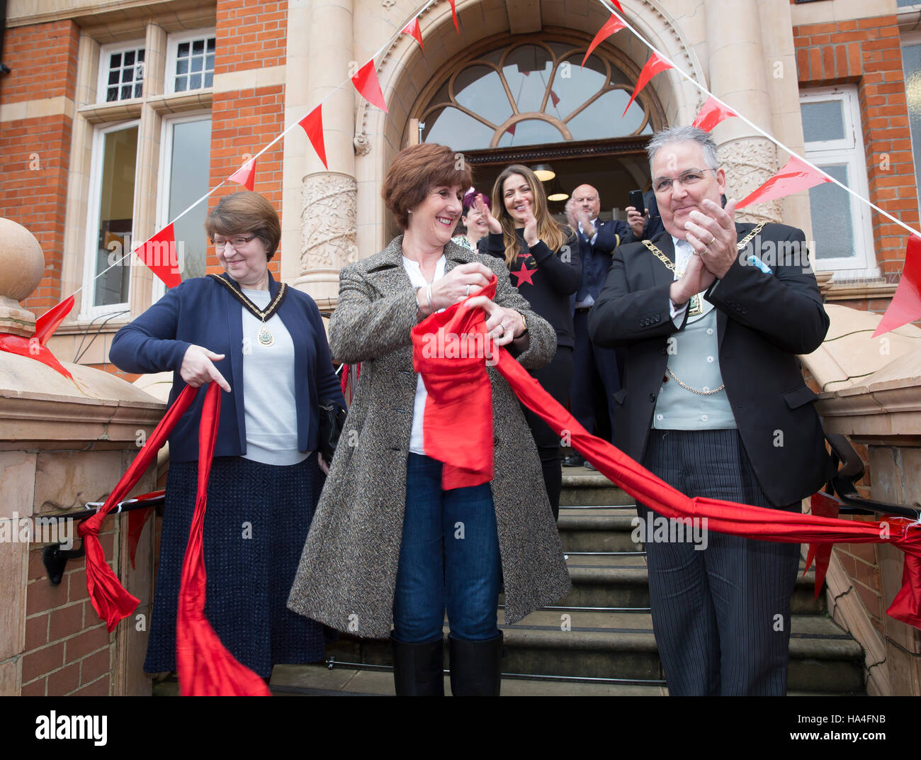
<svg viewBox="0 0 921 760"><path fill-rule="evenodd" d="M393 596L393 637L406 643L442 636L499 635L499 537L489 484L441 490L441 462L410 453L400 566Z"/></svg>

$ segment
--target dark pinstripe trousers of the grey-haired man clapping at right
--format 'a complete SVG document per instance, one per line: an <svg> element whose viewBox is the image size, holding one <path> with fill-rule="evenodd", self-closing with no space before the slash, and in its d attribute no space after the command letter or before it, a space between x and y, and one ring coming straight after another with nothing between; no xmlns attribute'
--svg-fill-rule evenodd
<svg viewBox="0 0 921 760"><path fill-rule="evenodd" d="M689 497L775 506L755 479L738 430L650 430L643 463ZM799 510L799 503L778 509ZM637 511L644 520L661 520L645 505ZM699 550L682 542L681 532L677 538L646 545L652 623L669 694L785 695L799 544L710 531Z"/></svg>

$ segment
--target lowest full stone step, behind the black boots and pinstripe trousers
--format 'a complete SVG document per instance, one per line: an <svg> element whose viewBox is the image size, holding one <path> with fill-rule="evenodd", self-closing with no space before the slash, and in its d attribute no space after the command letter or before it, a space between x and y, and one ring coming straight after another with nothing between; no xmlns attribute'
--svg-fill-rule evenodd
<svg viewBox="0 0 921 760"><path fill-rule="evenodd" d="M539 610L505 626L500 610L499 627L506 642L504 673L664 684L649 614ZM386 641L343 639L328 654L340 662L391 664ZM791 690L863 693L862 661L857 642L830 619L794 617L787 676Z"/></svg>

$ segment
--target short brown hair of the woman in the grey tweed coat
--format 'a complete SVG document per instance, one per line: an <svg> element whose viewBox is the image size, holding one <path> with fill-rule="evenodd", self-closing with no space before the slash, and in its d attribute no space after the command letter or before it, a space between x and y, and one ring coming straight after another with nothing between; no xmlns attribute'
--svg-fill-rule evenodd
<svg viewBox="0 0 921 760"><path fill-rule="evenodd" d="M467 192L473 184L472 171L462 153L448 146L423 143L404 147L387 170L380 194L401 229L409 227L409 211L426 200L438 185L461 185Z"/></svg>

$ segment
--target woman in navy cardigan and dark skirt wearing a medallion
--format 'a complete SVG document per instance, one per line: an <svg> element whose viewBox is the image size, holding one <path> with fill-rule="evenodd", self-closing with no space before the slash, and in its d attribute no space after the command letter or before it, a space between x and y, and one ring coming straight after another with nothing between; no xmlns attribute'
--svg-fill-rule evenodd
<svg viewBox="0 0 921 760"><path fill-rule="evenodd" d="M281 238L257 193L224 197L205 221L224 275L186 280L112 341L126 372L216 380L221 418L204 521L205 616L227 649L268 681L276 663L324 655L319 623L286 607L320 497L318 404L344 408L317 305L268 270ZM146 672L176 669L176 609L198 476L204 393L169 438L169 475Z"/></svg>

